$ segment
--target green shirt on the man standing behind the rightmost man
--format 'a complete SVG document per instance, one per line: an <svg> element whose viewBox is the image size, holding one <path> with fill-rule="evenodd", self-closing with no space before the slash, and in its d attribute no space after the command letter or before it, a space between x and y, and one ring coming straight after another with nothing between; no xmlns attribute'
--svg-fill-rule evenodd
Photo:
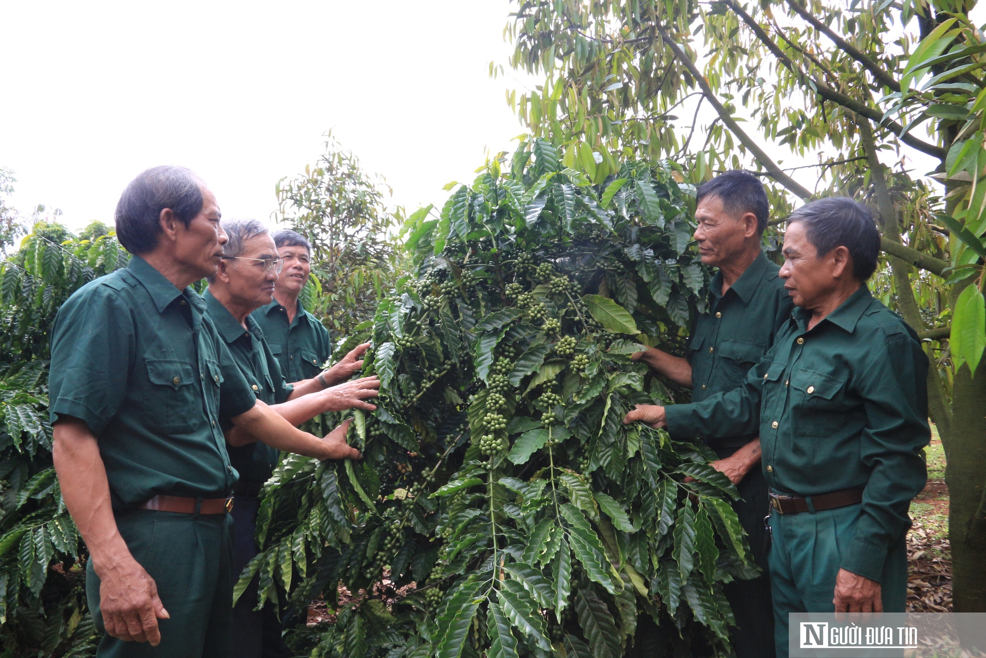
<svg viewBox="0 0 986 658"><path fill-rule="evenodd" d="M723 294L723 274L712 278L712 303L691 329L686 353L691 364L692 402L742 385L763 358L774 335L791 318L794 304L777 275L780 267L761 252ZM716 447L736 448L756 434L710 439Z"/></svg>

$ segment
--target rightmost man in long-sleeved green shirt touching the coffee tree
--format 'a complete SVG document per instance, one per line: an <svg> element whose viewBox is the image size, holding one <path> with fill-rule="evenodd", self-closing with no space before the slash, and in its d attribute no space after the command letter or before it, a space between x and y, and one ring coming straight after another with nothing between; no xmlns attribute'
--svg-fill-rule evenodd
<svg viewBox="0 0 986 658"><path fill-rule="evenodd" d="M925 485L931 439L928 358L867 288L879 253L866 206L803 206L788 219L780 271L799 308L742 387L624 419L671 436L759 430L779 656L789 613L905 608L907 509Z"/></svg>

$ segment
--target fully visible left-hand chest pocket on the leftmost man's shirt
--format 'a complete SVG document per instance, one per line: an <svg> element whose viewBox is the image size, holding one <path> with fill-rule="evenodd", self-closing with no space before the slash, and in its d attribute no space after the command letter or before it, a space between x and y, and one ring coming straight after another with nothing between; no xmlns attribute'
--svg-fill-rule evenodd
<svg viewBox="0 0 986 658"><path fill-rule="evenodd" d="M146 363L150 395L143 411L148 425L165 434L193 431L203 410L191 363L183 359L148 359Z"/></svg>

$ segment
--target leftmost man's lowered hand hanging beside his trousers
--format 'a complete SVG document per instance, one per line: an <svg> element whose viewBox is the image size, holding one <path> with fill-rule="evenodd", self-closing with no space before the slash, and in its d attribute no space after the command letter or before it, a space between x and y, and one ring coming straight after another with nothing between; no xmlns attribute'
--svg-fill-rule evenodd
<svg viewBox="0 0 986 658"><path fill-rule="evenodd" d="M97 569L100 612L106 632L124 642L161 643L158 620L171 616L158 596L158 586L137 560L121 560Z"/></svg>

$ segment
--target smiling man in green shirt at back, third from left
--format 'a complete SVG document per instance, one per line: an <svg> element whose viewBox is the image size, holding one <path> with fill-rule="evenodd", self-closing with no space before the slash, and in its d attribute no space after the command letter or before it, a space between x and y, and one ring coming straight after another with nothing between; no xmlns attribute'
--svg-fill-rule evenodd
<svg viewBox="0 0 986 658"><path fill-rule="evenodd" d="M284 269L274 283L274 299L254 311L253 319L263 329L287 381L317 378L332 345L328 329L298 299L312 271L312 245L304 236L288 230L274 234L274 245L284 260ZM369 346L357 347L359 354Z"/></svg>

